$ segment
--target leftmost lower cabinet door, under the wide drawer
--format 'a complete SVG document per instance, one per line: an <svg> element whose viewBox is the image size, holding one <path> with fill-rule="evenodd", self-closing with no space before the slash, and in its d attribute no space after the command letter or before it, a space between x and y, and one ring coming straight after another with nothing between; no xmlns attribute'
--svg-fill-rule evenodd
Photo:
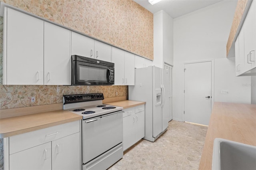
<svg viewBox="0 0 256 170"><path fill-rule="evenodd" d="M10 170L51 170L51 142L11 154Z"/></svg>

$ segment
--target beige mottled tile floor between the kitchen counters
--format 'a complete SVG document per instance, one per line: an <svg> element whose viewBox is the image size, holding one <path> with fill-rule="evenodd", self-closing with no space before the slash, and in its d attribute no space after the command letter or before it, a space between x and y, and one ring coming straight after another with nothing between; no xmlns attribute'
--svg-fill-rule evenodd
<svg viewBox="0 0 256 170"><path fill-rule="evenodd" d="M155 142L140 140L109 170L198 170L207 127L170 121Z"/></svg>

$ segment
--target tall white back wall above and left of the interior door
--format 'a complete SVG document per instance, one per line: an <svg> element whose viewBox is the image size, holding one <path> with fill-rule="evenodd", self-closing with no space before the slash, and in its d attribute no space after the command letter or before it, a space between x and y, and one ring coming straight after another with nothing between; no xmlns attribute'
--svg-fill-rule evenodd
<svg viewBox="0 0 256 170"><path fill-rule="evenodd" d="M184 62L226 58L226 43L236 3L237 1L218 2L174 19L174 120L182 121Z"/></svg>

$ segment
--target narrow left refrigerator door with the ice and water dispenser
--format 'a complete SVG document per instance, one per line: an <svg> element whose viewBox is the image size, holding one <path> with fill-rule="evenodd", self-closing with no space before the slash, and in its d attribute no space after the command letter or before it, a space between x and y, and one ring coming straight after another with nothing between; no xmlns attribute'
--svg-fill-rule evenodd
<svg viewBox="0 0 256 170"><path fill-rule="evenodd" d="M162 92L161 92L161 72L162 70L158 67L153 67L152 79L153 79L153 137L158 136L162 132ZM159 101L156 101L156 96L161 94ZM158 105L156 105L159 103Z"/></svg>

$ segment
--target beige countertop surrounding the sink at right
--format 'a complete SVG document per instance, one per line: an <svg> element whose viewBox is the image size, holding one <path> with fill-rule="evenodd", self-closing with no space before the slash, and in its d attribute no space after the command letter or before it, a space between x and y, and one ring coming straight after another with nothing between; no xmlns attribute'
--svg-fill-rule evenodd
<svg viewBox="0 0 256 170"><path fill-rule="evenodd" d="M256 146L256 105L214 102L200 160L200 170L212 169L215 138Z"/></svg>

